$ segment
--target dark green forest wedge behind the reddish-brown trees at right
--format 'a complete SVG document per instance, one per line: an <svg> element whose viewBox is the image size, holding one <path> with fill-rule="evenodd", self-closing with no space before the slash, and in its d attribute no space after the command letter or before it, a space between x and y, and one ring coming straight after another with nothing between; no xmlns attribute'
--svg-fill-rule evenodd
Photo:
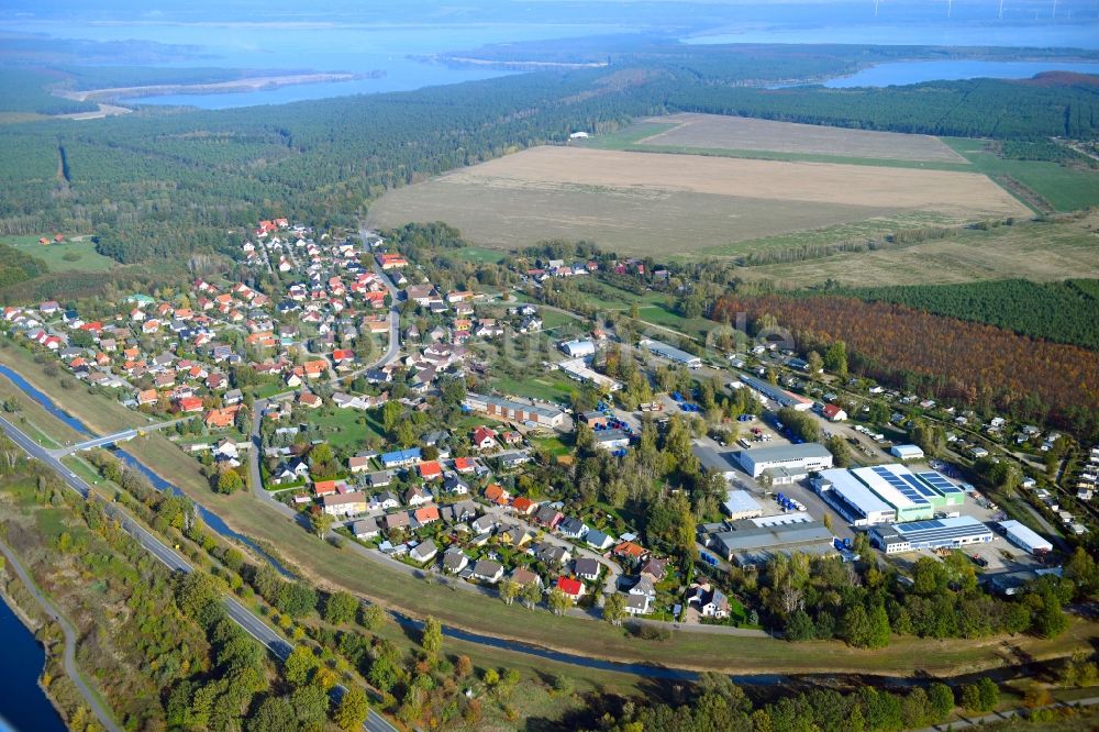
<svg viewBox="0 0 1099 732"><path fill-rule="evenodd" d="M913 285L828 290L867 302L988 323L1020 335L1099 350L1099 281L1032 282L1006 279L954 285Z"/></svg>

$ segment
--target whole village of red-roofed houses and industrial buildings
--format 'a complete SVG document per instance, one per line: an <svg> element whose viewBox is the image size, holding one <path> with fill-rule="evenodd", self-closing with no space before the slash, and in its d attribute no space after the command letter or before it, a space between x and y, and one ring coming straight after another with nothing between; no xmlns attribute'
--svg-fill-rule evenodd
<svg viewBox="0 0 1099 732"><path fill-rule="evenodd" d="M189 291L130 292L98 313L4 308L2 328L145 414L202 464L213 490L251 490L374 561L507 602L593 613L614 598L630 615L753 626L724 577L778 554L910 562L963 548L1004 594L1057 572L1047 541L956 464L911 444L906 423L918 409L965 429L944 434L965 461L992 444L1041 456L1058 435L1000 417L981 423L866 379L846 384L863 399L841 396L819 366L774 343L714 357L658 332L624 342L529 295L607 268L656 280L667 270L546 259L515 271L514 287L449 289L374 232L314 239L275 219L244 239L242 262L278 292L198 278ZM493 378L499 348L486 347L511 337L540 345L530 373L580 396L511 393ZM612 353L644 369L631 374L643 386L629 406L629 379L608 373ZM585 493L578 474L581 459L635 459L654 435L669 453L682 440L680 462L715 496L675 517L690 522L678 543L629 498ZM1092 450L1074 499L1089 501L1097 484ZM1066 532L1089 531L1034 478L1021 488ZM682 562L685 551L707 572Z"/></svg>

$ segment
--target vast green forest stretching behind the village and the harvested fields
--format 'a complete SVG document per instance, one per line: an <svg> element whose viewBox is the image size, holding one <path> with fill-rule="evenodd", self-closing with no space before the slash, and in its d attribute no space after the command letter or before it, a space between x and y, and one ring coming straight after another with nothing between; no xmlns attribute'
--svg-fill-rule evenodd
<svg viewBox="0 0 1099 732"><path fill-rule="evenodd" d="M869 52L731 48L280 107L4 125L0 233L95 233L100 251L124 263L225 251L226 229L259 218L349 224L386 189L647 113L1018 138L1064 134L1068 120L1072 134L1095 134L1099 89L1075 77L768 91L743 85L835 71Z"/></svg>

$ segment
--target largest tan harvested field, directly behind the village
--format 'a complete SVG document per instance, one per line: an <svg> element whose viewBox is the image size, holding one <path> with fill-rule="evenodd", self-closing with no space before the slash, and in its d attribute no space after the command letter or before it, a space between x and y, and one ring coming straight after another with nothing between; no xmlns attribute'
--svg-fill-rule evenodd
<svg viewBox="0 0 1099 732"><path fill-rule="evenodd" d="M536 147L391 191L369 223L445 221L486 246L586 239L643 255L915 211L944 221L1029 214L968 173Z"/></svg>

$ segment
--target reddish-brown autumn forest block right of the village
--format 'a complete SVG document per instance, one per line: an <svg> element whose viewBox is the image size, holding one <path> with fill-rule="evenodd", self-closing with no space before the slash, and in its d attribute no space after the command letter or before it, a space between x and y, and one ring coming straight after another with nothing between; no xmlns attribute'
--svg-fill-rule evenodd
<svg viewBox="0 0 1099 732"><path fill-rule="evenodd" d="M711 317L735 322L737 313L774 318L804 351L844 341L852 370L887 384L1024 420L1048 418L1081 436L1099 428L1091 351L851 297L728 297Z"/></svg>

